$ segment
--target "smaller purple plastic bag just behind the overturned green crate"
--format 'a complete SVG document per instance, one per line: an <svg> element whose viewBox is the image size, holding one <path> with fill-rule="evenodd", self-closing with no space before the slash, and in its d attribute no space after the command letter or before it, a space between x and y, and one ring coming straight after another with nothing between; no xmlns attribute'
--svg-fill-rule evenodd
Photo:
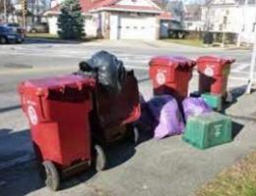
<svg viewBox="0 0 256 196"><path fill-rule="evenodd" d="M190 116L198 116L213 111L201 97L188 97L184 99L182 106L186 121Z"/></svg>

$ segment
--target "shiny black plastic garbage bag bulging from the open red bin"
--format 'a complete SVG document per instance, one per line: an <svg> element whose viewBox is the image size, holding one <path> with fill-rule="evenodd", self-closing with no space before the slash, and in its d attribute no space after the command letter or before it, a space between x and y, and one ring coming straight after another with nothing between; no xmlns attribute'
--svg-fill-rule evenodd
<svg viewBox="0 0 256 196"><path fill-rule="evenodd" d="M100 84L108 91L118 93L125 81L126 71L123 62L114 55L106 52L97 52L91 59L80 63L80 71L92 73Z"/></svg>

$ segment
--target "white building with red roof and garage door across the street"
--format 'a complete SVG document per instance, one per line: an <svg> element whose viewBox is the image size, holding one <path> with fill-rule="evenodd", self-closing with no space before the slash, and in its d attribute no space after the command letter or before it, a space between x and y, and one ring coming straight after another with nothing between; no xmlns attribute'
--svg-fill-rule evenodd
<svg viewBox="0 0 256 196"><path fill-rule="evenodd" d="M108 39L157 39L160 32L160 7L152 0L81 0L86 16L88 36ZM57 33L60 6L44 15L48 17L50 33Z"/></svg>

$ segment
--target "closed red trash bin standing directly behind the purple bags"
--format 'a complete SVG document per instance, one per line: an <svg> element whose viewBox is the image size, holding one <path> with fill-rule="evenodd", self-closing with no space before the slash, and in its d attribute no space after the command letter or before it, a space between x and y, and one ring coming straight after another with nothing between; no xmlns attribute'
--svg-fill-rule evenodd
<svg viewBox="0 0 256 196"><path fill-rule="evenodd" d="M171 94L182 101L188 94L188 84L196 63L180 56L159 56L150 61L150 78L154 94Z"/></svg>

